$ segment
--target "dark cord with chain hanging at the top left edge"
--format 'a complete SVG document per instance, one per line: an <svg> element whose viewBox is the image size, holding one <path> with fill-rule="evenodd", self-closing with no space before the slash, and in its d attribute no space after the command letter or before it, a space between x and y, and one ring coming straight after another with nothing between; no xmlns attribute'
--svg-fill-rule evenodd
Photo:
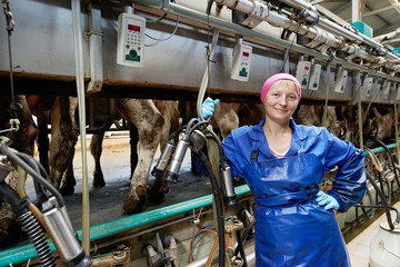
<svg viewBox="0 0 400 267"><path fill-rule="evenodd" d="M13 88L13 76L12 76L12 57L11 57L11 31L16 28L16 22L12 19L11 8L8 0L2 0L2 7L6 14L7 21L7 32L8 32L8 46L9 46L9 59L10 59L10 90L11 90L11 119L10 119L10 129L8 131L18 131L20 121L17 116L17 110L21 108L21 106L16 102L14 88Z"/></svg>

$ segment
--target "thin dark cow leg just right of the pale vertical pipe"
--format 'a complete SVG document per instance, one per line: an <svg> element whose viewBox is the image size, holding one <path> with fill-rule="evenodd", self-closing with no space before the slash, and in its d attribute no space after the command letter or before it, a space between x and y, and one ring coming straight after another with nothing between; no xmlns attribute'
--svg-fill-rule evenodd
<svg viewBox="0 0 400 267"><path fill-rule="evenodd" d="M93 135L90 141L90 152L94 159L93 187L102 188L106 186L104 176L100 166L100 157L102 152L102 141L104 132Z"/></svg>

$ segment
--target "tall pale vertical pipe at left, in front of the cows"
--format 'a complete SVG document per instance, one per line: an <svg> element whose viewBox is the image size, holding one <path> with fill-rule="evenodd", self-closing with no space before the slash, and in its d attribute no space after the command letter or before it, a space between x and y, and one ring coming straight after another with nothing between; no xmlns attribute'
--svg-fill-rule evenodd
<svg viewBox="0 0 400 267"><path fill-rule="evenodd" d="M83 49L82 49L82 28L80 22L81 7L80 0L71 0L72 7L72 28L73 44L76 55L76 81L77 96L79 101L79 128L81 136L81 157L82 157L82 247L86 254L90 254L90 220L89 220L89 186L88 186L88 165L86 149L86 107L84 107L84 70L83 70Z"/></svg>

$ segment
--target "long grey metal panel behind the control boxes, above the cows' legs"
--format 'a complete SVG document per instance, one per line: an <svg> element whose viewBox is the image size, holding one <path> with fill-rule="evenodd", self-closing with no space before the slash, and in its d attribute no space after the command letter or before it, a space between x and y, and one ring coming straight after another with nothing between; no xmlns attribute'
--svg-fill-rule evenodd
<svg viewBox="0 0 400 267"><path fill-rule="evenodd" d="M88 31L88 13L82 6L82 28ZM70 1L13 1L11 11L16 20L16 31L12 32L12 56L13 70L20 73L33 73L74 77L74 48L72 39L72 14ZM194 26L183 23L181 19L177 33L168 41L157 42L146 47L144 67L129 68L117 65L117 27L118 14L121 8L114 2L102 2L102 33L103 33L103 69L104 82L110 85L126 85L127 90L134 90L137 86L152 86L160 88L199 88L206 69L206 47L211 42L212 31L208 32ZM229 11L223 10L224 17L229 18ZM157 14L143 13L136 10L136 13L147 19L158 18ZM148 23L147 33L157 38L168 38L176 27L174 16L169 16L159 23ZM6 20L0 19L0 28L4 29ZM257 28L258 29L258 28ZM269 26L266 22L260 24L259 31L270 32L271 36L279 36L281 30ZM84 34L84 33L83 33ZM3 30L0 36L0 71L9 71L7 32ZM283 66L283 49L277 46L266 47L249 42L252 46L251 68L249 81L237 81L230 79L232 66L232 48L234 37L232 33L221 33L212 63L210 88L216 92L240 92L258 95L264 80L273 73L279 72ZM147 44L154 43L146 38ZM211 44L211 43L210 43ZM83 42L84 76L89 78L89 51L88 39ZM296 75L297 53L291 53L290 73ZM327 82L326 62L322 65L322 77L319 91L303 90L304 98L323 100L329 91L330 99L352 100L356 98L357 89L353 88L353 71L349 71L347 90L344 93L333 91L333 76L336 66L328 75L330 82ZM58 77L58 78L57 78ZM394 87L394 85L392 85ZM392 90L391 95L394 93ZM154 96L149 96L154 97ZM393 97L379 99L381 102L390 102ZM368 101L369 99L363 99Z"/></svg>

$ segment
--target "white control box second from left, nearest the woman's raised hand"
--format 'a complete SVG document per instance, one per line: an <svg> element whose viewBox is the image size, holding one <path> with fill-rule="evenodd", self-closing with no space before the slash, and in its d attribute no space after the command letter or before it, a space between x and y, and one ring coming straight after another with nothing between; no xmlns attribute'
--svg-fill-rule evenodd
<svg viewBox="0 0 400 267"><path fill-rule="evenodd" d="M250 56L252 47L247 44L236 44L233 48L233 65L231 79L248 81L250 72Z"/></svg>

